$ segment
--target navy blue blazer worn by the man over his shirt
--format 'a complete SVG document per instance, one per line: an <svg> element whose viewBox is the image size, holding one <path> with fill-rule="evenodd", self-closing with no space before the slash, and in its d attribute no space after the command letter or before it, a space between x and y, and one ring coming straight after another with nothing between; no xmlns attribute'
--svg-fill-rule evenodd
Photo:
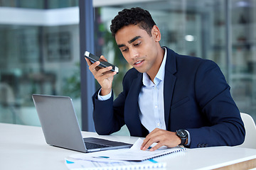
<svg viewBox="0 0 256 170"><path fill-rule="evenodd" d="M97 92L92 96L95 130L100 135L110 135L126 124L130 135L146 137L149 132L142 125L138 111L142 73L129 69L122 85L123 91L114 101L113 96L107 101L97 100ZM210 60L178 55L169 48L164 77L164 118L166 130L188 130L191 148L234 146L245 139L240 111L218 65Z"/></svg>

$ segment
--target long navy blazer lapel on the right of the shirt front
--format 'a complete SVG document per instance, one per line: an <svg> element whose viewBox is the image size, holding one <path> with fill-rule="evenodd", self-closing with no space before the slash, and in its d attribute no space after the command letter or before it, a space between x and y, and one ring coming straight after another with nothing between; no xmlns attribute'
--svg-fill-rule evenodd
<svg viewBox="0 0 256 170"><path fill-rule="evenodd" d="M169 117L171 112L171 100L174 94L174 86L176 82L176 53L167 48L166 67L164 74L164 120L166 130L169 130Z"/></svg>

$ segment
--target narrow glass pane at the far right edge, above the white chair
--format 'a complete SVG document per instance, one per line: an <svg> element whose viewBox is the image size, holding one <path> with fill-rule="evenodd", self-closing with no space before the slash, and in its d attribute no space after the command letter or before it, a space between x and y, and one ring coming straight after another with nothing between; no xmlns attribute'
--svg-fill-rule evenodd
<svg viewBox="0 0 256 170"><path fill-rule="evenodd" d="M232 94L256 120L256 1L231 1Z"/></svg>

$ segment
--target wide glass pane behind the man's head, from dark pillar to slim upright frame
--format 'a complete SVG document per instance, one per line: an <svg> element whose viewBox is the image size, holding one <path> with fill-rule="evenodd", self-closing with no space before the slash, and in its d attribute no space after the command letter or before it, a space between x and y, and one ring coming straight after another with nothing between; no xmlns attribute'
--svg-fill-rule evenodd
<svg viewBox="0 0 256 170"><path fill-rule="evenodd" d="M112 18L123 8L140 6L150 11L161 31L161 45L181 55L202 57L217 62L225 72L225 4L224 1L150 1L147 3L102 6L95 9L97 55L120 68L114 77L114 94L122 91L122 77L130 68L110 33ZM223 7L224 6L224 7ZM223 26L223 28L220 28Z"/></svg>

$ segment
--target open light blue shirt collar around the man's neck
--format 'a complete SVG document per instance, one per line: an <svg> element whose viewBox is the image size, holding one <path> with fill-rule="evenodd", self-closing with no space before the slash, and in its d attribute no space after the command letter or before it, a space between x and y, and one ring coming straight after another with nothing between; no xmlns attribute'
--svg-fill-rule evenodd
<svg viewBox="0 0 256 170"><path fill-rule="evenodd" d="M164 81L164 71L165 71L165 65L166 65L166 56L167 56L167 50L166 47L163 47L164 49L164 59L161 62L161 66L159 68L159 71L156 74L156 77L154 78L154 84L157 86L161 81ZM143 73L142 83L144 86L154 86L153 82L149 79L149 75L146 73Z"/></svg>

